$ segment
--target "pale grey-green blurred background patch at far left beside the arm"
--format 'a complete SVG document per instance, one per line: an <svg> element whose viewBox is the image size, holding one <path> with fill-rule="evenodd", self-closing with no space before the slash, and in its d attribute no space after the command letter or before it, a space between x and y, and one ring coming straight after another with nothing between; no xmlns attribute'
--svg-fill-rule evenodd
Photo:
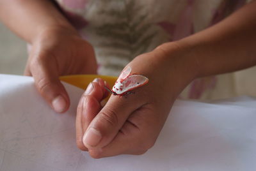
<svg viewBox="0 0 256 171"><path fill-rule="evenodd" d="M0 73L23 75L27 57L26 42L0 22Z"/></svg>

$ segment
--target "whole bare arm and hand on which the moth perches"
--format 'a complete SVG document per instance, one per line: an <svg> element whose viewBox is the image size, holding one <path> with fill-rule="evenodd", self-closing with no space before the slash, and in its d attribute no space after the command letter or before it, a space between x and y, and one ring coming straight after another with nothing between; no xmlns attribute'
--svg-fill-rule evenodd
<svg viewBox="0 0 256 171"><path fill-rule="evenodd" d="M255 9L253 1L204 31L136 57L127 66L149 81L128 98L112 95L101 107L103 80L92 82L77 107L77 146L93 158L150 149L189 82L256 64Z"/></svg>

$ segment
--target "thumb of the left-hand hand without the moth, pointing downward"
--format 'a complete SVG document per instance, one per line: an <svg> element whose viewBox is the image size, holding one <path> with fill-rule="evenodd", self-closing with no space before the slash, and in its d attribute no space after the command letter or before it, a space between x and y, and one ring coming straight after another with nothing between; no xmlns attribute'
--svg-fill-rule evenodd
<svg viewBox="0 0 256 171"><path fill-rule="evenodd" d="M70 102L67 91L58 78L58 67L55 63L35 61L31 65L31 74L35 79L36 89L49 105L58 113L67 111Z"/></svg>

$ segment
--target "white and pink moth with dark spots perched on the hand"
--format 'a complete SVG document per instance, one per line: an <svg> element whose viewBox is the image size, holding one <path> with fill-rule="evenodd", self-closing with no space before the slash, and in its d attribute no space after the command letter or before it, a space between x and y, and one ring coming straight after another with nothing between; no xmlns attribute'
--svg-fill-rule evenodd
<svg viewBox="0 0 256 171"><path fill-rule="evenodd" d="M108 87L105 88L115 96L127 97L128 94L132 93L131 91L133 89L148 83L147 77L138 74L131 74L131 71L131 66L127 66L116 80L112 90L109 90Z"/></svg>

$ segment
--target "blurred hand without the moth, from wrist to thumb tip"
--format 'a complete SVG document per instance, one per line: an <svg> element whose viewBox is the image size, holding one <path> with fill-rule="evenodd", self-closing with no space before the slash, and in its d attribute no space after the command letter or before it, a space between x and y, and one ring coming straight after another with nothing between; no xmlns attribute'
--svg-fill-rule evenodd
<svg viewBox="0 0 256 171"><path fill-rule="evenodd" d="M96 71L92 46L76 31L55 28L33 41L24 75L35 78L36 88L56 112L65 112L69 99L58 77Z"/></svg>

